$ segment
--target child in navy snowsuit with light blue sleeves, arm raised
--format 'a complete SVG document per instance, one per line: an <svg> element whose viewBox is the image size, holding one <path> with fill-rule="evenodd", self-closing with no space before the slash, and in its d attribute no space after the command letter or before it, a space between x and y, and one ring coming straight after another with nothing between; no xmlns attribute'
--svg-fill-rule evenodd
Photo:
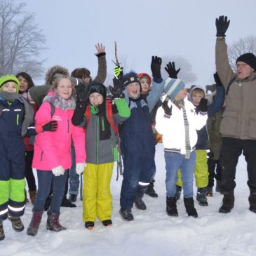
<svg viewBox="0 0 256 256"><path fill-rule="evenodd" d="M137 208L146 209L142 197L155 171L155 145L150 112L163 92L160 69L161 58L153 56L151 61L153 83L146 100L140 95L140 79L136 73L130 72L124 75L122 80L125 86L126 101L130 106L130 118L122 123L119 130L123 156L123 182L119 213L123 220L133 220L131 209L135 200Z"/></svg>

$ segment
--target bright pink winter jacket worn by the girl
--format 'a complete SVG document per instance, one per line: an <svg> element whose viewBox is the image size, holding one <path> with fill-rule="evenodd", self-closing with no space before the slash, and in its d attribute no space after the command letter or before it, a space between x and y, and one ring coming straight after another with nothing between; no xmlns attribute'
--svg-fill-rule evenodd
<svg viewBox="0 0 256 256"><path fill-rule="evenodd" d="M76 163L86 161L85 130L72 124L74 109L62 110L55 107L51 117L49 102L43 102L36 112L36 123L45 124L51 120L58 121L55 132L43 132L36 135L34 142L34 158L32 168L39 170L52 170L62 166L65 170L72 166L70 147L72 140L76 153Z"/></svg>

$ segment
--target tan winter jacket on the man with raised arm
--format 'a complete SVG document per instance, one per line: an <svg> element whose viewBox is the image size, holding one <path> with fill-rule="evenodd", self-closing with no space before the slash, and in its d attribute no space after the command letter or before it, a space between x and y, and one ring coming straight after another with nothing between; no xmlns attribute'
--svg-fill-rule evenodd
<svg viewBox="0 0 256 256"><path fill-rule="evenodd" d="M247 79L238 79L229 65L225 39L217 39L215 49L217 73L227 90L226 108L220 123L222 137L241 140L256 140L256 74Z"/></svg>

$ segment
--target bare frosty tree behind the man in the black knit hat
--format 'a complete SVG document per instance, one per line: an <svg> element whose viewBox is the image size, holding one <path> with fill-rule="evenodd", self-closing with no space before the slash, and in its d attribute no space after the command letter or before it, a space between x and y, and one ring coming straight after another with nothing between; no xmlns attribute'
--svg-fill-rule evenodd
<svg viewBox="0 0 256 256"><path fill-rule="evenodd" d="M240 38L229 46L229 63L234 71L236 70L236 59L243 53L253 53L256 55L256 36L250 35Z"/></svg>

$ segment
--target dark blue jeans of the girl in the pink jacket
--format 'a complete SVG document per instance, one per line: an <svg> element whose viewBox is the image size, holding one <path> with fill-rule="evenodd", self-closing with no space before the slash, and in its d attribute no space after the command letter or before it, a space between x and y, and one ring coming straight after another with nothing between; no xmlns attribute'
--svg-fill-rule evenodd
<svg viewBox="0 0 256 256"><path fill-rule="evenodd" d="M53 196L50 201L50 213L60 213L60 205L65 191L68 171L65 170L64 175L55 176L49 170L36 170L38 179L38 190L36 200L34 202L34 212L43 211L46 198L50 193L51 184L53 182Z"/></svg>

